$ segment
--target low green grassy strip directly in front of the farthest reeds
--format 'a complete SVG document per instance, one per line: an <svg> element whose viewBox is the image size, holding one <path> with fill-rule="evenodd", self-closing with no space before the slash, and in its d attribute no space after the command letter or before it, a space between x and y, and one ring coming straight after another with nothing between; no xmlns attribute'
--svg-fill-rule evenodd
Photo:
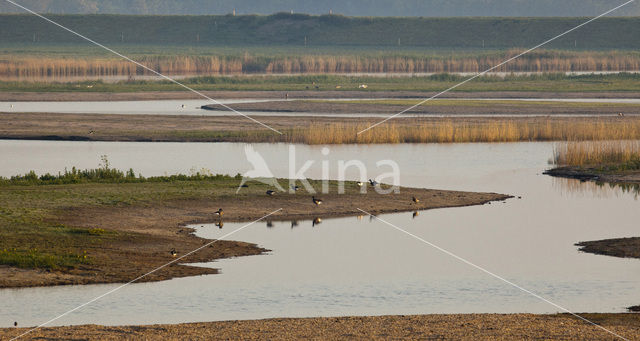
<svg viewBox="0 0 640 341"><path fill-rule="evenodd" d="M371 77L337 75L300 76L219 76L196 77L181 80L197 90L256 90L256 91L442 91L465 77L434 75L423 77ZM367 89L359 89L367 84ZM316 89L316 86L318 87ZM340 88L336 88L340 86ZM67 83L0 82L0 91L53 91L53 92L137 92L184 91L169 81L122 81L106 83L84 81ZM640 91L640 75L579 75L542 74L507 77L483 76L455 91L546 91L546 92L603 92Z"/></svg>

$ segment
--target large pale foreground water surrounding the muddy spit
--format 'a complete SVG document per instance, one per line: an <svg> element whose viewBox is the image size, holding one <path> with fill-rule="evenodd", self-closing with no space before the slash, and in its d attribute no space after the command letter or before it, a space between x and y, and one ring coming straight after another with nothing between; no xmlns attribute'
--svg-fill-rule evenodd
<svg viewBox="0 0 640 341"><path fill-rule="evenodd" d="M287 176L286 144L255 144L276 176ZM307 158L360 158L368 177L395 160L401 184L522 196L507 203L380 216L425 240L577 312L622 312L640 302L640 261L580 253L584 240L637 236L634 193L541 175L550 143L295 146ZM114 167L144 175L208 168L249 170L244 144L0 141L0 174L64 166L94 167L107 154ZM45 157L46 156L46 157ZM277 160L277 161L275 161ZM321 177L316 163L306 174ZM355 173L348 177L355 178ZM197 226L216 238L244 224ZM229 239L258 243L267 255L204 266L222 274L142 283L57 320L54 325L178 323L266 317L412 313L553 313L544 303L388 225L368 217L256 223ZM214 244L215 245L215 244ZM133 274L132 274L133 277ZM117 285L0 290L0 326L34 325Z"/></svg>

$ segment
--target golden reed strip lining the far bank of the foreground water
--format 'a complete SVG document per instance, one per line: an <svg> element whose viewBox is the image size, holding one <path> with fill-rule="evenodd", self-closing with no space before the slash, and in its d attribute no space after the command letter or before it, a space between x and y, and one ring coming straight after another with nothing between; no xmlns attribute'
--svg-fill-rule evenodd
<svg viewBox="0 0 640 341"><path fill-rule="evenodd" d="M307 144L343 143L463 143L520 141L603 141L640 139L640 119L558 120L495 119L438 120L385 123L311 123L291 132L290 142Z"/></svg>

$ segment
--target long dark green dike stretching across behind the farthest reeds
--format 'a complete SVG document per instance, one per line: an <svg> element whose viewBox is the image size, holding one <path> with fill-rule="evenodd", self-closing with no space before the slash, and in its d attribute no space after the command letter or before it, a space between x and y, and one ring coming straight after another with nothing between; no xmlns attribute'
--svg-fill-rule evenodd
<svg viewBox="0 0 640 341"><path fill-rule="evenodd" d="M147 45L531 47L584 18L389 18L310 16L50 15L99 42ZM33 15L0 15L0 44L83 43ZM547 48L638 49L640 18L602 18Z"/></svg>

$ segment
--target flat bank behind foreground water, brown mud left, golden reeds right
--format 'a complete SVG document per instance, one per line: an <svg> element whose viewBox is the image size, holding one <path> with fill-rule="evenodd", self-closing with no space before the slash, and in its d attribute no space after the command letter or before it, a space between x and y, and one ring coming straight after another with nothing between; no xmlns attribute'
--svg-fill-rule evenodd
<svg viewBox="0 0 640 341"><path fill-rule="evenodd" d="M640 139L640 117L260 116L4 113L0 139L161 142L452 143Z"/></svg>

